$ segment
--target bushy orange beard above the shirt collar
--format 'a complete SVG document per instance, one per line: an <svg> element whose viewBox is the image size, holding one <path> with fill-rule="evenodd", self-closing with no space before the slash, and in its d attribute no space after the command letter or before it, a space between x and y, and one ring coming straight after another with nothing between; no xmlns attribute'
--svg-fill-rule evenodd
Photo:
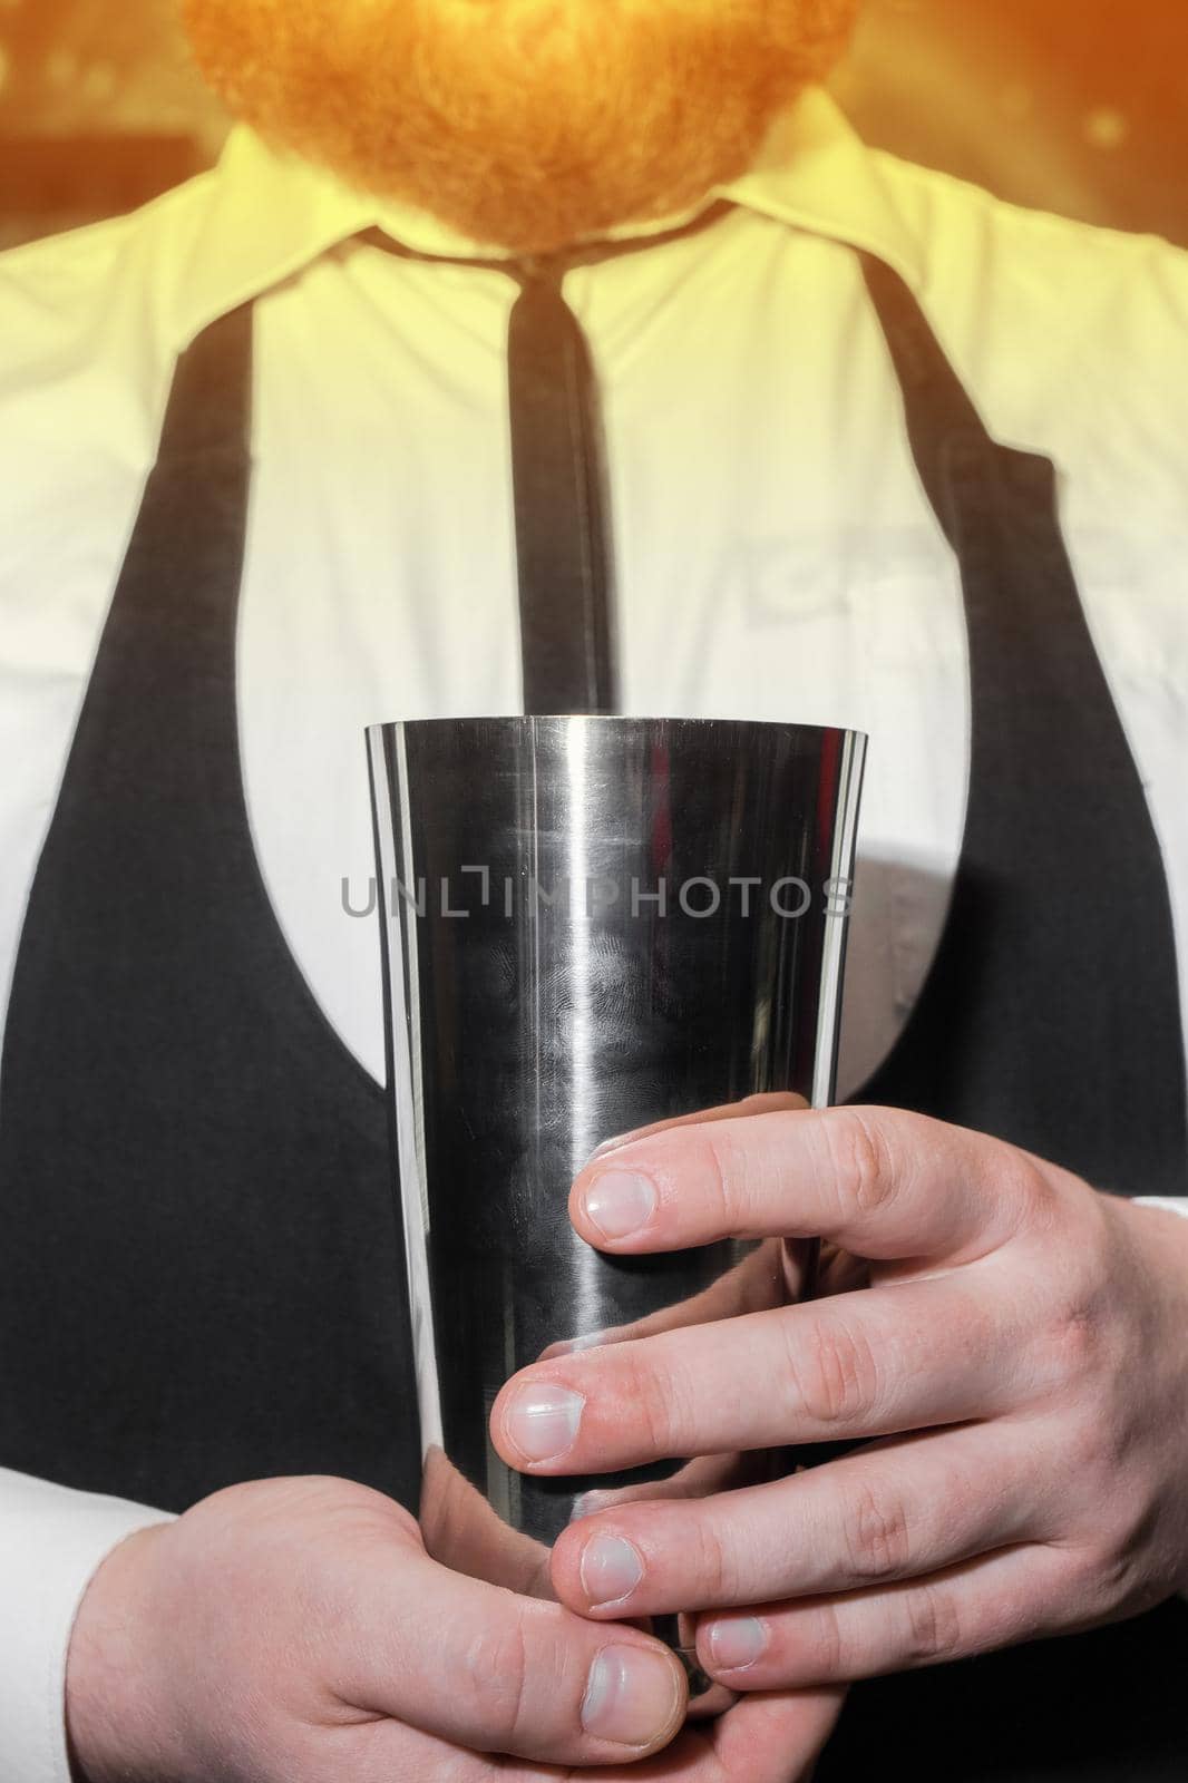
<svg viewBox="0 0 1188 1783"><path fill-rule="evenodd" d="M464 235L549 250L694 207L858 0L182 0L232 111Z"/></svg>

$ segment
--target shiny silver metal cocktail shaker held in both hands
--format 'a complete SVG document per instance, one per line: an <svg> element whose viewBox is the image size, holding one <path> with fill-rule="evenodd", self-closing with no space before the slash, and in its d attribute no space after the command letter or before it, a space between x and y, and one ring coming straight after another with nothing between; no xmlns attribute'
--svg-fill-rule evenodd
<svg viewBox="0 0 1188 1783"><path fill-rule="evenodd" d="M576 1494L614 1482L510 1471L487 1435L496 1393L549 1343L737 1261L598 1255L569 1184L651 1122L760 1091L831 1098L865 738L530 717L375 726L367 744L426 1489L444 1455L551 1542Z"/></svg>

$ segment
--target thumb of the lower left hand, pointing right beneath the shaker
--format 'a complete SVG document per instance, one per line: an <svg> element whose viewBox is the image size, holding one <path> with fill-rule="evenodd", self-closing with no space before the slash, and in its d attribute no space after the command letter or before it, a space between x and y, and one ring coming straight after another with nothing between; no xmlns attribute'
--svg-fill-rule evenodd
<svg viewBox="0 0 1188 1783"><path fill-rule="evenodd" d="M339 1697L474 1751L599 1765L667 1746L685 1672L649 1635L462 1578L419 1548L360 1546L344 1580Z"/></svg>

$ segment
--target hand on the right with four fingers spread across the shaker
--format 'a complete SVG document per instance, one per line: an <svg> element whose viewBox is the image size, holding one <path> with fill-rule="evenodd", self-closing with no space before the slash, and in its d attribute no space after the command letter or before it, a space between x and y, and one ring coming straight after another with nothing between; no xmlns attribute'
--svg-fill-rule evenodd
<svg viewBox="0 0 1188 1783"><path fill-rule="evenodd" d="M549 1355L496 1401L507 1460L862 1444L710 1498L594 1500L553 1557L583 1615L706 1610L706 1671L767 1690L1081 1630L1188 1583L1177 1214L853 1109L631 1139L587 1166L571 1216L614 1255L824 1236L828 1298Z"/></svg>

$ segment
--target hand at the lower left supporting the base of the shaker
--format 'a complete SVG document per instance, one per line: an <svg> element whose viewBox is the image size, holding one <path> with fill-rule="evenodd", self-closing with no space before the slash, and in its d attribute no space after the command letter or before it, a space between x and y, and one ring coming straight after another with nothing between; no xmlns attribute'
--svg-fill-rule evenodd
<svg viewBox="0 0 1188 1783"><path fill-rule="evenodd" d="M482 1503L458 1492L455 1523L471 1521L471 1500ZM833 1726L833 1696L751 1697L705 1733L678 1733L685 1680L664 1646L507 1589L539 1585L539 1557L514 1537L492 1548L485 1519L455 1537L501 1583L430 1558L412 1517L342 1480L232 1487L130 1537L96 1574L71 1642L78 1774L539 1783L592 1765L606 1783L804 1776Z"/></svg>

